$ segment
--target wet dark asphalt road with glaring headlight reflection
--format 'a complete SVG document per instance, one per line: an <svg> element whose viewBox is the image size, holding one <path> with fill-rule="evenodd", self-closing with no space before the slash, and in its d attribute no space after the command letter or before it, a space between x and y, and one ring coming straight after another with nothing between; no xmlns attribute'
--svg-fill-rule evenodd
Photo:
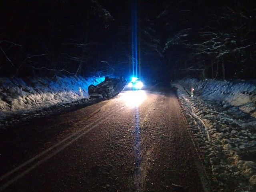
<svg viewBox="0 0 256 192"><path fill-rule="evenodd" d="M202 192L187 126L175 90L22 122L0 136L0 191Z"/></svg>

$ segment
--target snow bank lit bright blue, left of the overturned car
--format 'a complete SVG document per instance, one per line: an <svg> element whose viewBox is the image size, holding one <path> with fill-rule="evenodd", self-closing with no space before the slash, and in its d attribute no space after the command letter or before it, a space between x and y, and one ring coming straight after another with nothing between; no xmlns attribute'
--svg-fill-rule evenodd
<svg viewBox="0 0 256 192"><path fill-rule="evenodd" d="M102 78L55 76L54 78L0 78L0 116L34 110L60 102L88 98L88 86Z"/></svg>

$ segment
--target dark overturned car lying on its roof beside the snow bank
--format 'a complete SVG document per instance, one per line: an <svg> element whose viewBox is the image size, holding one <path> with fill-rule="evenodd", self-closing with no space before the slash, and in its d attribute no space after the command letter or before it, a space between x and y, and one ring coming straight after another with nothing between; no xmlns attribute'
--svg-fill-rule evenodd
<svg viewBox="0 0 256 192"><path fill-rule="evenodd" d="M105 80L100 84L94 86L90 85L88 87L88 94L90 97L103 97L112 98L117 96L127 84L125 78L110 78L105 77Z"/></svg>

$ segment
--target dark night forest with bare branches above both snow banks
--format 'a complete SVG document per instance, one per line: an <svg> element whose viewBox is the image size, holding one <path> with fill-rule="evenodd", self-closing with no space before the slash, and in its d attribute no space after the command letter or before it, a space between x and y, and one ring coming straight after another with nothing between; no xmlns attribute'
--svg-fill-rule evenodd
<svg viewBox="0 0 256 192"><path fill-rule="evenodd" d="M4 0L0 76L256 78L253 0Z"/></svg>

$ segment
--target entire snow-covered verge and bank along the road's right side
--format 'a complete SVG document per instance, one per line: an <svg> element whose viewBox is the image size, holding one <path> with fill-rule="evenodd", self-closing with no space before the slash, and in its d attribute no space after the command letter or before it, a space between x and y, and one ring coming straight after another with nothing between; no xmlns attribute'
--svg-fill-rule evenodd
<svg viewBox="0 0 256 192"><path fill-rule="evenodd" d="M172 85L178 88L189 131L214 190L256 191L256 119L251 110L255 84L190 79ZM192 86L194 97L189 94Z"/></svg>

